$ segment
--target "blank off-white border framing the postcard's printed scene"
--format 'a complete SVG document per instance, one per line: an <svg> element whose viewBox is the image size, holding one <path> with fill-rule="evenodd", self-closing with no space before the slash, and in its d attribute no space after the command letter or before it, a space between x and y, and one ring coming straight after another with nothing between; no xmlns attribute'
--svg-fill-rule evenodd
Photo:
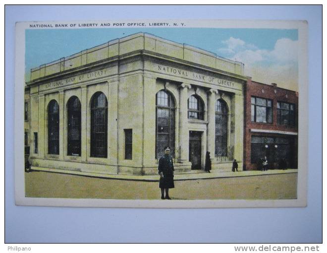
<svg viewBox="0 0 327 253"><path fill-rule="evenodd" d="M140 19L141 20L141 19ZM105 22L137 22L140 20L106 20ZM142 19L144 22L154 21ZM76 23L88 21L38 22L39 24ZM95 23L97 21L90 21ZM103 21L99 21L104 22ZM211 200L122 200L122 199L72 199L25 197L24 181L24 72L25 29L33 22L16 23L15 41L15 101L14 101L14 169L16 205L78 206L78 207L131 207L131 208L227 208L227 207L305 207L307 205L308 175L308 24L306 21L258 21L258 20L156 20L156 22L183 22L190 27L202 28L283 28L298 29L299 41L299 112L298 121L298 184L297 199L211 199ZM76 27L73 27L76 29ZM42 28L45 29L45 28ZM47 28L46 28L47 29ZM49 28L56 29L56 28ZM69 29L69 28L68 28ZM83 28L81 28L83 29ZM119 29L119 28L117 28ZM158 28L160 29L160 28Z"/></svg>

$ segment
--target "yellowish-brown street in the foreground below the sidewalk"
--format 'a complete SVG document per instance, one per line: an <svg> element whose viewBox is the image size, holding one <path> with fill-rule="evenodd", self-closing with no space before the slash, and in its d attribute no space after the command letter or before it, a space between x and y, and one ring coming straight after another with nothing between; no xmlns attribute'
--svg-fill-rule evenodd
<svg viewBox="0 0 327 253"><path fill-rule="evenodd" d="M158 182L92 178L32 171L25 173L28 197L160 199ZM296 198L297 173L175 181L172 199ZM168 201L168 200L165 200Z"/></svg>

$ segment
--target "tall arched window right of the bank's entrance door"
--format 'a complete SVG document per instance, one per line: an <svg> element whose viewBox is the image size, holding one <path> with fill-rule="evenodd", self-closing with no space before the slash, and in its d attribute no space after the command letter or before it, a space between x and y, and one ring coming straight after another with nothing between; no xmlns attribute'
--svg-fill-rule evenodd
<svg viewBox="0 0 327 253"><path fill-rule="evenodd" d="M227 156L227 105L221 99L216 101L216 138L215 138L215 155Z"/></svg>

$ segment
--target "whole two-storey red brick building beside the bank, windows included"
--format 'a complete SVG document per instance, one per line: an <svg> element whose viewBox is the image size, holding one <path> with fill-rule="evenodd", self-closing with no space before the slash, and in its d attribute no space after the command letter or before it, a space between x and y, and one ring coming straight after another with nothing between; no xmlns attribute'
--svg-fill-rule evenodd
<svg viewBox="0 0 327 253"><path fill-rule="evenodd" d="M298 93L250 79L244 96L243 169L260 169L265 156L269 169L297 168Z"/></svg>

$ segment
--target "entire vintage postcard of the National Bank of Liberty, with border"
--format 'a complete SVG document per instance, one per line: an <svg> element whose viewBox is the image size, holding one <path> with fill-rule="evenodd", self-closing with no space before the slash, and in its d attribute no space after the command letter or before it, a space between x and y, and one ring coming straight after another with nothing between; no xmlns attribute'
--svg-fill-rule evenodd
<svg viewBox="0 0 327 253"><path fill-rule="evenodd" d="M306 206L306 21L20 22L15 57L16 204Z"/></svg>

